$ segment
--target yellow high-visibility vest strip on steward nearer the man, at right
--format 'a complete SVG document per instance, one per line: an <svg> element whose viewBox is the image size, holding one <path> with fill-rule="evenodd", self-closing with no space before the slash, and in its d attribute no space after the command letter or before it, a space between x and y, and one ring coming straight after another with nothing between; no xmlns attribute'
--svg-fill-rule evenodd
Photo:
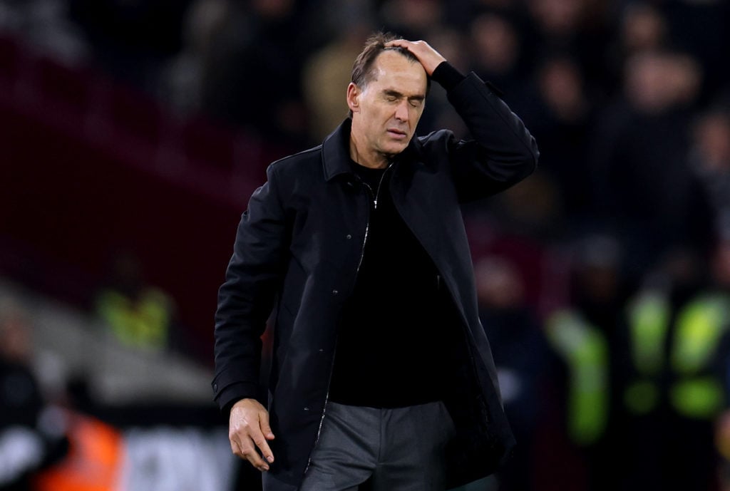
<svg viewBox="0 0 730 491"><path fill-rule="evenodd" d="M567 428L576 444L589 445L604 433L609 412L608 344L604 333L579 313L550 316L548 340L569 371Z"/></svg>

